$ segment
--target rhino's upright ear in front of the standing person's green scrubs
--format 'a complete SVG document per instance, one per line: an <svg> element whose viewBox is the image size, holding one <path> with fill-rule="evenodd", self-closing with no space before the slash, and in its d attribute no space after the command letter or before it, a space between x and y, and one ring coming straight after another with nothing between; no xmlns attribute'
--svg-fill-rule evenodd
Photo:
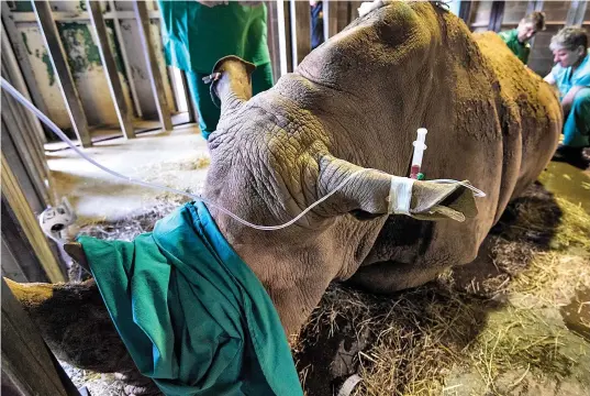
<svg viewBox="0 0 590 396"><path fill-rule="evenodd" d="M203 80L212 84L212 95L221 100L222 113L252 98L255 69L256 66L234 55L222 57L213 66L213 74Z"/></svg>

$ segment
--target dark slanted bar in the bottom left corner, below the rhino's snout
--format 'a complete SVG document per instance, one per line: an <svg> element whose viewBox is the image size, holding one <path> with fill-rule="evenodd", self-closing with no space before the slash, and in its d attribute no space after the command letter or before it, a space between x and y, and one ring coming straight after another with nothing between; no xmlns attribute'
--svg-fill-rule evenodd
<svg viewBox="0 0 590 396"><path fill-rule="evenodd" d="M2 278L2 374L22 395L80 396Z"/></svg>

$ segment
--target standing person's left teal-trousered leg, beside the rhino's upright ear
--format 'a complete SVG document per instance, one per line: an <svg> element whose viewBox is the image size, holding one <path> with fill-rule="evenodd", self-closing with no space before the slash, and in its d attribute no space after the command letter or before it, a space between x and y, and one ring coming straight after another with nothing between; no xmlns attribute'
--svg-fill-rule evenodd
<svg viewBox="0 0 590 396"><path fill-rule="evenodd" d="M199 111L199 127L205 140L218 128L221 110L211 100L210 88L203 82L207 74L187 72L190 96Z"/></svg>

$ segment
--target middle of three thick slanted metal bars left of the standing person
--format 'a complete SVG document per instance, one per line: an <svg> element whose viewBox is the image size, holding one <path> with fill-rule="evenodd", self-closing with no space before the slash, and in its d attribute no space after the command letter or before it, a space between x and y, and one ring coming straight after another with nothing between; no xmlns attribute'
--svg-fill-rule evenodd
<svg viewBox="0 0 590 396"><path fill-rule="evenodd" d="M126 139L135 138L133 131L133 123L130 114L130 109L125 101L125 95L123 92L123 86L121 78L119 78L119 72L116 70L116 64L114 62L114 55L109 44L109 33L107 32L107 25L102 19L102 10L100 9L99 1L86 0L87 8L90 12L90 19L94 26L94 33L97 34L97 44L104 67L104 76L109 82L109 89L111 91L111 98L113 99L116 117L119 118L119 124L123 131L123 135Z"/></svg>

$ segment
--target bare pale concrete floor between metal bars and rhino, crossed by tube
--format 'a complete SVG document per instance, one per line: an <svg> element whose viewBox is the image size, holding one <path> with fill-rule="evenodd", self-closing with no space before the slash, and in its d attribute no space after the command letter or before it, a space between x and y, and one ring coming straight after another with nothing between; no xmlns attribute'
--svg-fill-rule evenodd
<svg viewBox="0 0 590 396"><path fill-rule="evenodd" d="M188 124L172 132L149 132L125 141L97 143L86 153L125 176L199 193L209 165L207 142ZM79 223L119 220L142 212L174 195L118 179L94 167L73 150L46 152L59 199L67 197Z"/></svg>

